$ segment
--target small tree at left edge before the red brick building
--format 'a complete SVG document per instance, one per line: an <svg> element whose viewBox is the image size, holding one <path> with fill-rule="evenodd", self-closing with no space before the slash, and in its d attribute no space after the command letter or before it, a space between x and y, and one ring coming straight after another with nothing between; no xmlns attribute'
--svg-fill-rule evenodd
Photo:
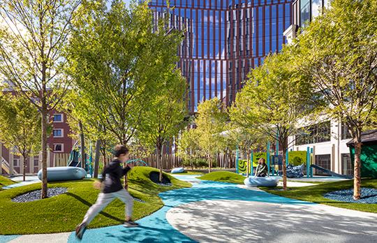
<svg viewBox="0 0 377 243"><path fill-rule="evenodd" d="M0 141L10 152L22 156L24 181L27 159L40 151L39 125L40 114L27 98L0 93Z"/></svg>

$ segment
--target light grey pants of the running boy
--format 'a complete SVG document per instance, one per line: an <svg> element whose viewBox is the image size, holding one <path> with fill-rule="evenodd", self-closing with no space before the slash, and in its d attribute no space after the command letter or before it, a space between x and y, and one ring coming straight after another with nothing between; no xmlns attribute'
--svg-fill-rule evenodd
<svg viewBox="0 0 377 243"><path fill-rule="evenodd" d="M87 214L84 216L82 223L87 225L97 216L112 200L119 198L122 202L126 203L125 213L126 216L132 215L133 197L125 189L115 191L113 193L99 193L97 201L94 205L91 205Z"/></svg>

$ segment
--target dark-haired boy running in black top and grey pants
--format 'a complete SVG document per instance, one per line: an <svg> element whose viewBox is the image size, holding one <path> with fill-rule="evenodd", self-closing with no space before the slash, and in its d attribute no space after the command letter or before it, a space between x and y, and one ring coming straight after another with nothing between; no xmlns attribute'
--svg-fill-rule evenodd
<svg viewBox="0 0 377 243"><path fill-rule="evenodd" d="M114 159L105 166L102 172L101 193L99 193L96 203L92 205L87 214L85 214L82 223L76 228L76 237L80 240L89 223L115 198L119 198L119 200L126 203L126 221L124 222L124 226L138 226L138 223L131 220L133 197L121 185L121 177L131 170L128 165L125 168L121 168L121 163L125 163L126 161L128 161L128 148L124 145L115 146ZM98 184L100 184L100 182L98 182ZM97 187L99 186L98 184L96 184Z"/></svg>

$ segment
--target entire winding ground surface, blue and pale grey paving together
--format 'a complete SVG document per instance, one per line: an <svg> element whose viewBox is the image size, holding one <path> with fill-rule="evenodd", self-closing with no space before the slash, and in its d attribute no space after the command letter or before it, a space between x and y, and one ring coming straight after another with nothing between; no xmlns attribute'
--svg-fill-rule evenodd
<svg viewBox="0 0 377 243"><path fill-rule="evenodd" d="M292 243L306 240L329 242L335 239L335 236L338 237L335 242L372 242L371 237L377 237L377 214L352 210L337 213L337 208L334 207L274 196L258 189L245 190L235 184L199 181L192 175L177 175L177 178L193 183L193 187L160 193L165 206L140 219L140 227L110 226L90 229L85 233L82 242L272 240ZM357 228L350 226L351 221L356 221ZM337 228L339 230L334 230ZM355 230L359 238L351 238L348 233L350 230ZM349 241L350 239L352 241ZM78 242L74 233L0 236L0 242L10 240Z"/></svg>

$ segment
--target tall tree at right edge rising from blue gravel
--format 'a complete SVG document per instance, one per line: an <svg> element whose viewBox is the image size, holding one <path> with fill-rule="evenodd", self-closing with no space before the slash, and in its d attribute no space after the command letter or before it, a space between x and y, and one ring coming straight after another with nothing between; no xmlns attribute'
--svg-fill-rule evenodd
<svg viewBox="0 0 377 243"><path fill-rule="evenodd" d="M376 0L334 0L295 43L297 66L323 95L324 113L346 124L355 142L355 200L360 199L361 133L377 109L376 13Z"/></svg>

